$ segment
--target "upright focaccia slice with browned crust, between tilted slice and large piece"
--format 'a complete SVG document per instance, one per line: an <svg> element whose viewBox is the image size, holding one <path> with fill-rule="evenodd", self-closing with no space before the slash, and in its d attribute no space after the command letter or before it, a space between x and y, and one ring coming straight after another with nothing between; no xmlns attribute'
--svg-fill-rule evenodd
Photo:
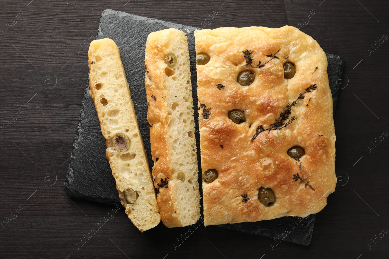
<svg viewBox="0 0 389 259"><path fill-rule="evenodd" d="M195 122L187 37L166 29L147 37L145 86L154 186L168 228L200 217Z"/></svg>

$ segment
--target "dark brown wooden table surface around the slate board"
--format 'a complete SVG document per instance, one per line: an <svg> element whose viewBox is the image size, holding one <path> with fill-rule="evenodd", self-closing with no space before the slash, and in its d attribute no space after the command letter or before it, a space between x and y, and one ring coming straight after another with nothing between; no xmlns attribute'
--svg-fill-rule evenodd
<svg viewBox="0 0 389 259"><path fill-rule="evenodd" d="M389 257L387 1L127 1L0 3L0 258ZM338 186L317 214L310 246L202 226L174 247L187 228L129 235L135 227L120 209L77 247L112 209L63 193L88 46L108 8L203 28L287 24L345 58L335 113Z"/></svg>

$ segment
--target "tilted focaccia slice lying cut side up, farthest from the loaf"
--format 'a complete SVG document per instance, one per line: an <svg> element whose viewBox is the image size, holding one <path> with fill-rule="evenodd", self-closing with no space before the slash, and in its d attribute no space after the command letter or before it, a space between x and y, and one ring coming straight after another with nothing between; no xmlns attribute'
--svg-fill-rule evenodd
<svg viewBox="0 0 389 259"><path fill-rule="evenodd" d="M106 139L105 154L125 212L143 232L161 218L119 49L111 39L93 40L88 57L90 94Z"/></svg>

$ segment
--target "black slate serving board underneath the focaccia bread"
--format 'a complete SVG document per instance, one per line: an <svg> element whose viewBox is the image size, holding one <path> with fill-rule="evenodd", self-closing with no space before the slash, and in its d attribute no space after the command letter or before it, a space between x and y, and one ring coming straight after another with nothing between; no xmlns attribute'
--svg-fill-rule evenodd
<svg viewBox="0 0 389 259"><path fill-rule="evenodd" d="M126 71L127 82L131 91L131 99L134 103L140 132L151 167L153 162L151 158L147 103L145 98L146 92L144 87L145 44L149 33L166 28L177 28L184 31L187 35L191 61L193 103L197 107L194 27L107 9L102 13L100 18L96 37L97 39L111 38L119 47L124 70ZM339 91L337 80L342 76L344 59L331 54L327 54L327 58L327 71L333 96L333 111L335 112ZM200 147L197 113L195 113L195 122L196 144ZM198 148L197 156L199 158L198 166L201 168L200 148ZM199 179L201 179L200 174ZM89 86L87 83L65 181L65 193L74 198L106 205L115 205L119 203L115 186L115 179L111 174L109 163L105 157L105 139L101 134L100 123L93 100L89 96ZM314 220L315 215L312 214L304 219L298 217L282 217L271 221L242 222L238 224L218 225L218 227L308 245L312 239ZM288 235L285 234L287 229L291 230L291 233Z"/></svg>

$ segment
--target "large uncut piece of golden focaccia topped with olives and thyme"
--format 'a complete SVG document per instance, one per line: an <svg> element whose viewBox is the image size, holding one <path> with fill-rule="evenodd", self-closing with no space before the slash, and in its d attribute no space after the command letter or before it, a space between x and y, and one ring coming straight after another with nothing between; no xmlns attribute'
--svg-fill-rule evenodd
<svg viewBox="0 0 389 259"><path fill-rule="evenodd" d="M284 26L196 30L204 224L306 217L335 191L327 58Z"/></svg>

